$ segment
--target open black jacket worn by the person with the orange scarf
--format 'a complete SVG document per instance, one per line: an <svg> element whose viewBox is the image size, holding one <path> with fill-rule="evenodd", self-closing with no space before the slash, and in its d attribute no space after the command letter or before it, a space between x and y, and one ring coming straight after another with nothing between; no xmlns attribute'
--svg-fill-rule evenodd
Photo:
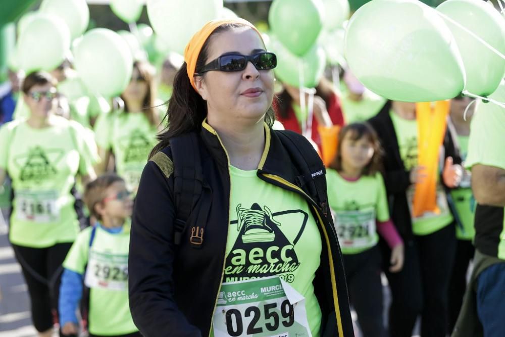
<svg viewBox="0 0 505 337"><path fill-rule="evenodd" d="M396 137L391 116L389 116L390 109L391 102L388 101L382 110L375 117L368 120L368 122L377 132L382 149L384 150L382 173L384 184L386 185L391 220L403 238L403 241L407 244L414 237L406 193L411 185L410 172L405 169L405 165L403 165L403 161L401 160L398 138ZM455 147L449 129L445 131L443 146L445 150L444 157L452 157L455 164L461 164L459 152ZM440 181L443 184L441 177ZM447 186L445 186L445 189L448 191Z"/></svg>

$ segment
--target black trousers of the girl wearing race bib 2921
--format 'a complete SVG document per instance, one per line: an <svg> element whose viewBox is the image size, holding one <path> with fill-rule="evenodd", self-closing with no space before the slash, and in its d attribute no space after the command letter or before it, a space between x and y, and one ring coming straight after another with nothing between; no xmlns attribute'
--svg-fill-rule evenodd
<svg viewBox="0 0 505 337"><path fill-rule="evenodd" d="M343 255L345 279L364 337L383 337L381 253L377 246Z"/></svg>

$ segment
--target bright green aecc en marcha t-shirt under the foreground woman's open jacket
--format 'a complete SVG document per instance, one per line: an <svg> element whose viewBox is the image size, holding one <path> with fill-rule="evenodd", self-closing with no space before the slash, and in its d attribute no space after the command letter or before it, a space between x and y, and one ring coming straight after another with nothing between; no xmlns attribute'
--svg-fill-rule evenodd
<svg viewBox="0 0 505 337"><path fill-rule="evenodd" d="M230 175L230 226L221 291L227 282L278 275L305 298L310 330L318 337L322 317L313 281L322 243L309 205L294 192L261 180L256 170L230 166ZM272 320L261 316L257 327L268 332L268 322Z"/></svg>

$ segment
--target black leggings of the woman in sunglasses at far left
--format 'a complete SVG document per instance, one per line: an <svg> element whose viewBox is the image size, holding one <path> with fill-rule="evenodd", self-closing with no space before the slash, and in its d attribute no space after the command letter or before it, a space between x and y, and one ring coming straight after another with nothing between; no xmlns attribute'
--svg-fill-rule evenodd
<svg viewBox="0 0 505 337"><path fill-rule="evenodd" d="M44 332L53 327L53 314L58 315L62 263L72 244L56 244L47 248L13 244L12 247L28 286L33 325L37 331Z"/></svg>

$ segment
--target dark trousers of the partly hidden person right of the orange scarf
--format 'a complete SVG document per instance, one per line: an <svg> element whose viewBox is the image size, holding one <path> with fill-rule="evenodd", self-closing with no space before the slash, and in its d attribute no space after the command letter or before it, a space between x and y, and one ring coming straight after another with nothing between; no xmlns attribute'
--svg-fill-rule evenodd
<svg viewBox="0 0 505 337"><path fill-rule="evenodd" d="M456 256L454 265L452 266L452 275L449 285L449 312L448 312L448 329L450 334L456 325L458 316L460 315L461 305L463 304L463 296L467 288L467 271L470 261L475 254L475 248L471 240L457 240Z"/></svg>

